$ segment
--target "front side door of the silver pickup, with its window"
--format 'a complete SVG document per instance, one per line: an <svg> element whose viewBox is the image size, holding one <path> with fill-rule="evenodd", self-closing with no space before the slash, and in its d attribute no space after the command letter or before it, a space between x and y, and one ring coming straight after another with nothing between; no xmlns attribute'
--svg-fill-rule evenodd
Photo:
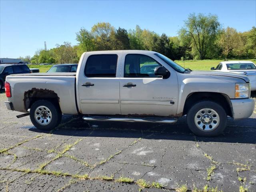
<svg viewBox="0 0 256 192"><path fill-rule="evenodd" d="M154 74L162 66L143 54L127 54L120 78L122 115L175 116L178 103L178 80L175 72L168 79Z"/></svg>

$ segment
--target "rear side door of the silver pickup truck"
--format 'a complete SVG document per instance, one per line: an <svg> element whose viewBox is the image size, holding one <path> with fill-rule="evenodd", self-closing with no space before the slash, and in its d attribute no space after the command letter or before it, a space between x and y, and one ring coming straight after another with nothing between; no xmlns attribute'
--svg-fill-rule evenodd
<svg viewBox="0 0 256 192"><path fill-rule="evenodd" d="M82 114L121 114L118 62L122 54L86 53L78 78Z"/></svg>

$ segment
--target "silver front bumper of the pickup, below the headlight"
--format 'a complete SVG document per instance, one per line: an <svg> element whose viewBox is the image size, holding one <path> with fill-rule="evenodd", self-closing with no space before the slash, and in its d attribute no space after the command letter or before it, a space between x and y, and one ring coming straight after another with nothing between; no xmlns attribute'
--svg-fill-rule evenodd
<svg viewBox="0 0 256 192"><path fill-rule="evenodd" d="M252 115L254 99L230 99L233 107L234 120L248 118Z"/></svg>

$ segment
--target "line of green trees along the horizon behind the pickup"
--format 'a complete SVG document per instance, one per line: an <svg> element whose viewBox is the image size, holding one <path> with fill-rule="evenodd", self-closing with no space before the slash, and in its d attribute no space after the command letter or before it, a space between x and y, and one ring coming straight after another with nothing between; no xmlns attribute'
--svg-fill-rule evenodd
<svg viewBox="0 0 256 192"><path fill-rule="evenodd" d="M70 42L56 44L50 50L38 50L31 63L78 63L83 52L97 50L151 50L172 60L245 59L256 58L256 28L238 32L234 28L223 28L218 16L212 14L190 14L178 36L159 35L142 29L115 29L108 22L99 22L90 30L81 28L76 33L77 45Z"/></svg>

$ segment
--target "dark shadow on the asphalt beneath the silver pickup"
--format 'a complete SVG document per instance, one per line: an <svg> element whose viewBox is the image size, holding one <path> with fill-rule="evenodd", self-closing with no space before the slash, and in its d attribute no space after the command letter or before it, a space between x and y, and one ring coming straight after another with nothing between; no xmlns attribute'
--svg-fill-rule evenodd
<svg viewBox="0 0 256 192"><path fill-rule="evenodd" d="M243 123L246 121L246 123ZM241 125L239 125L241 124ZM253 126L252 126L253 125ZM30 128L33 132L43 132ZM47 132L49 133L49 132ZM85 122L74 116L64 116L62 124L50 133L62 136L79 137L113 137L113 138L144 138L152 140L186 140L203 142L225 143L256 143L256 119L247 118L236 124L228 120L227 128L218 137L195 136L186 124L186 117L181 118L177 124L156 123L128 123L128 122Z"/></svg>

